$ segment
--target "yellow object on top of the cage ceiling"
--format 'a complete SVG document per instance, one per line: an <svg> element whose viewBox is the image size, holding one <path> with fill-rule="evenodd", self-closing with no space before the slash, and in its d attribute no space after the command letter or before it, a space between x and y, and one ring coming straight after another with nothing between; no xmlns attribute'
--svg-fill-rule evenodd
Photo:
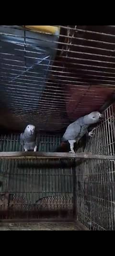
<svg viewBox="0 0 115 256"><path fill-rule="evenodd" d="M53 35L59 35L60 27L59 26L25 26L26 28L42 33L50 33Z"/></svg>

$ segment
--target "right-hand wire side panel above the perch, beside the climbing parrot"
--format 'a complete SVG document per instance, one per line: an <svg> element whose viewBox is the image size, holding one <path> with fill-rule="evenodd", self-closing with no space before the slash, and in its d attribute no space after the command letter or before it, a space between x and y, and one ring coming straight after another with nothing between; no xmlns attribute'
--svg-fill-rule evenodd
<svg viewBox="0 0 115 256"><path fill-rule="evenodd" d="M104 110L104 121L93 130L93 136L88 138L83 148L78 152L92 152L99 155L115 155L115 104Z"/></svg>

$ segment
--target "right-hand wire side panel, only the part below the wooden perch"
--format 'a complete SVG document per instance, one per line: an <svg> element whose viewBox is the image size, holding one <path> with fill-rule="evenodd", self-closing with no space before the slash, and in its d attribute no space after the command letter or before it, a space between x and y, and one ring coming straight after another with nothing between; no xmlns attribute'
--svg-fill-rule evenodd
<svg viewBox="0 0 115 256"><path fill-rule="evenodd" d="M115 230L114 191L115 163L91 160L77 166L77 210L81 222L92 230Z"/></svg>

